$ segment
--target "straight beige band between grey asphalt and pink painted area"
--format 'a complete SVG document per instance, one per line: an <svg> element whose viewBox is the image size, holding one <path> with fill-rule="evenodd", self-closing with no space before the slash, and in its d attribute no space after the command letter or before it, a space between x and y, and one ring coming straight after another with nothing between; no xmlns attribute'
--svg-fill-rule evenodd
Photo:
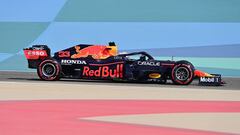
<svg viewBox="0 0 240 135"><path fill-rule="evenodd" d="M207 100L240 101L240 91L55 83L0 82L0 100Z"/></svg>

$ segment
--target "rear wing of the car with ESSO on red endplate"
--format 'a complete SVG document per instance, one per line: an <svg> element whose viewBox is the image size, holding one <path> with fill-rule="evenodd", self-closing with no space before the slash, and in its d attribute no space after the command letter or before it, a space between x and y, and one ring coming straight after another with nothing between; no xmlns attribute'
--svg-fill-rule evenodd
<svg viewBox="0 0 240 135"><path fill-rule="evenodd" d="M51 57L51 50L47 45L33 45L23 49L28 60L29 68L37 68L37 65L45 58Z"/></svg>

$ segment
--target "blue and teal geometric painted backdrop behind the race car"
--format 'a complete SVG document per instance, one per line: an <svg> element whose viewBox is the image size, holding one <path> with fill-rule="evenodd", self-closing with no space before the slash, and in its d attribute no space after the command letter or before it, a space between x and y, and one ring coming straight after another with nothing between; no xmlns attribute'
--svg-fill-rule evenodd
<svg viewBox="0 0 240 135"><path fill-rule="evenodd" d="M239 0L0 0L0 70L32 71L22 49L80 44L145 50L240 77Z"/></svg>

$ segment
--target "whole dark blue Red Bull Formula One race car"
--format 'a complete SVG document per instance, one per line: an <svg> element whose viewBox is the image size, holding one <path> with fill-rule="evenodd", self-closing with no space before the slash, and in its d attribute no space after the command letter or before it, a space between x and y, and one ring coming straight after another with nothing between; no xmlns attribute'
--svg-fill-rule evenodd
<svg viewBox="0 0 240 135"><path fill-rule="evenodd" d="M118 54L114 42L109 45L79 44L51 56L46 45L24 49L28 67L37 69L42 80L60 78L105 79L188 85L194 78L200 84L221 85L221 75L196 70L186 61L155 60L146 52Z"/></svg>

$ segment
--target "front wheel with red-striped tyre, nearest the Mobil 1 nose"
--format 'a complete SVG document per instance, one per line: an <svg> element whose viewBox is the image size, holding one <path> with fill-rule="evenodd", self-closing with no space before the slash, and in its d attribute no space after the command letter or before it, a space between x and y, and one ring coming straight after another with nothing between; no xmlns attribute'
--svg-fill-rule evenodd
<svg viewBox="0 0 240 135"><path fill-rule="evenodd" d="M172 81L177 85L188 85L194 79L194 66L187 61L179 61L172 69Z"/></svg>

